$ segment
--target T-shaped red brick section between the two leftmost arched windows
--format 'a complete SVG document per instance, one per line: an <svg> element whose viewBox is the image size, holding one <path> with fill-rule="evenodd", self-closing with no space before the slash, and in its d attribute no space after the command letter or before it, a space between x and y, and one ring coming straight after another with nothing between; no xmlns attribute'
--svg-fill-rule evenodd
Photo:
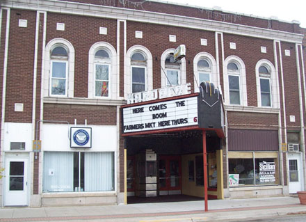
<svg viewBox="0 0 306 222"><path fill-rule="evenodd" d="M56 23L65 23L65 31L56 31ZM107 35L99 34L99 27L107 28ZM108 42L117 48L117 21L77 15L47 14L47 42L64 38L75 51L74 97L88 97L88 52L96 42Z"/></svg>

